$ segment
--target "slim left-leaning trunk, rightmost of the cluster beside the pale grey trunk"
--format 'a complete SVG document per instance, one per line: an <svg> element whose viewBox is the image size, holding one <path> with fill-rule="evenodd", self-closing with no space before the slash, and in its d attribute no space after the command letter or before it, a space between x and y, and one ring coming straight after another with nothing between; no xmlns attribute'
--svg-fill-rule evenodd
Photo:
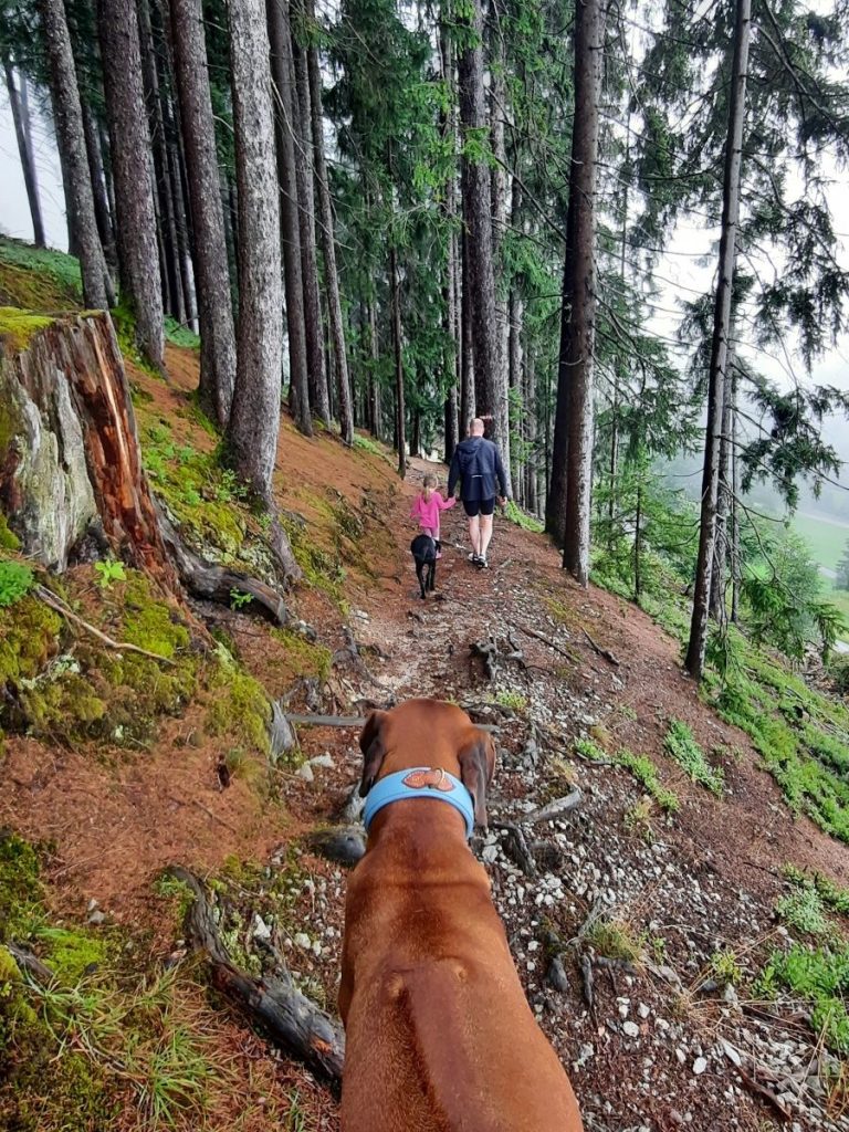
<svg viewBox="0 0 849 1132"><path fill-rule="evenodd" d="M305 0L305 15L315 22L315 0ZM338 417L342 430L342 443L353 444L353 406L351 403L351 377L348 370L348 353L345 348L345 326L342 318L342 300L338 289L338 272L336 269L335 222L331 189L327 181L327 162L324 155L324 128L321 111L321 69L318 61L318 49L315 40L307 50L307 68L309 74L310 115L312 123L312 154L316 168L316 188L321 218L321 254L324 256L325 292L327 295L327 312L331 324L331 341L333 343L333 367L335 374L336 397L338 398Z"/></svg>

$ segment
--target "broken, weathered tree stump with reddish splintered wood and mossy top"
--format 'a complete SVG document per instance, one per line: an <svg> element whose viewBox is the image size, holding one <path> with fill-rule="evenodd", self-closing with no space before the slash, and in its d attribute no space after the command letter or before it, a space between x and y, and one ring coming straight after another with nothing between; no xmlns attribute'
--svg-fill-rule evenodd
<svg viewBox="0 0 849 1132"><path fill-rule="evenodd" d="M0 509L10 529L55 571L86 534L102 532L117 556L179 592L112 320L31 321L23 348L0 342Z"/></svg>

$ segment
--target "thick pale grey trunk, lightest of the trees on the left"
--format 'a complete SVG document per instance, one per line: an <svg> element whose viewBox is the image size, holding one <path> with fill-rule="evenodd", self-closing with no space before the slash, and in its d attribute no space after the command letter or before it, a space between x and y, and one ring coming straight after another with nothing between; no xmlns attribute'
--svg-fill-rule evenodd
<svg viewBox="0 0 849 1132"><path fill-rule="evenodd" d="M283 294L263 0L231 6L230 60L239 185L239 332L228 439L237 471L271 506L280 432Z"/></svg>

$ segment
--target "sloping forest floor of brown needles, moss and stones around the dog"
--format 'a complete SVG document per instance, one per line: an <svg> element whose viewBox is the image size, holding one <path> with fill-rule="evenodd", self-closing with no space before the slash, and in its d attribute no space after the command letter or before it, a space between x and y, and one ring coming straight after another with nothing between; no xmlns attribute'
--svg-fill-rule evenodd
<svg viewBox="0 0 849 1132"><path fill-rule="evenodd" d="M198 552L261 571L261 522L192 396L197 354L172 345L168 369L164 383L128 365L152 487ZM57 976L24 984L0 949L0 1127L337 1127L332 1094L204 989L186 892L163 871L209 878L239 966L259 974L276 949L333 1010L344 869L310 835L333 827L357 781L358 726L295 724L298 747L274 758L266 696L355 719L411 695L499 728L492 827L475 848L588 1129L760 1132L782 1114L849 1127L846 975L831 998L832 968L808 970L801 990L782 958L801 953L775 915L781 899L794 940L825 940L811 954L849 967L849 852L786 800L814 799L815 770L799 764L794 795L790 753L775 767L720 720L674 636L576 588L541 535L501 517L480 573L447 513L437 595L421 602L408 515L424 466L398 484L371 441L346 451L284 421L275 488L305 572L286 629L238 593L175 617L140 575L93 561L51 581L89 625L175 661L179 686L154 660L127 670L32 594L0 609L0 676L20 705L10 713L7 697L0 723L0 827L14 834L0 838L0 938ZM10 652L28 667L2 668ZM827 723L837 765L841 709L774 658L758 663L794 735ZM575 788L576 808L534 813ZM830 814L839 829L841 798L816 797L820 825ZM45 1090L46 1064L60 1071Z"/></svg>

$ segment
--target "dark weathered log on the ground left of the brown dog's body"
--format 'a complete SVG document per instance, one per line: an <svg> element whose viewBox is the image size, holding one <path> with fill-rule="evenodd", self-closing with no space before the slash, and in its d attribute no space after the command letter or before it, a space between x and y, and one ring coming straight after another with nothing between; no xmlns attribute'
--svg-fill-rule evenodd
<svg viewBox="0 0 849 1132"><path fill-rule="evenodd" d="M186 914L186 933L192 946L205 954L213 986L275 1045L325 1081L338 1083L345 1056L341 1023L298 990L278 955L274 975L254 978L239 970L221 940L214 898L188 869L174 866L170 873L195 898Z"/></svg>

